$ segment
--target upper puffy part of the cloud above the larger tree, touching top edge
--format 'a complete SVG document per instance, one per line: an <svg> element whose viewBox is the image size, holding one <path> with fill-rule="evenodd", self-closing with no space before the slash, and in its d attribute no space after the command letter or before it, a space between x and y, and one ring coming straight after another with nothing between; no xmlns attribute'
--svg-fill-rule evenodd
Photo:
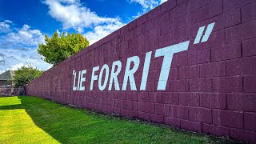
<svg viewBox="0 0 256 144"><path fill-rule="evenodd" d="M79 33L84 28L120 21L119 18L100 17L75 0L46 0L44 3L48 5L50 16L62 22L64 29L74 28Z"/></svg>

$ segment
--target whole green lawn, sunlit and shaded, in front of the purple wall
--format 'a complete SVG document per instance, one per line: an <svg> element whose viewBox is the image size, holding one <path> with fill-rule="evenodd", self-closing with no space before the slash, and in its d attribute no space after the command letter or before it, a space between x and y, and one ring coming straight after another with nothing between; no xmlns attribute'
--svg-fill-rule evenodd
<svg viewBox="0 0 256 144"><path fill-rule="evenodd" d="M227 143L214 138L62 106L42 98L0 98L0 143Z"/></svg>

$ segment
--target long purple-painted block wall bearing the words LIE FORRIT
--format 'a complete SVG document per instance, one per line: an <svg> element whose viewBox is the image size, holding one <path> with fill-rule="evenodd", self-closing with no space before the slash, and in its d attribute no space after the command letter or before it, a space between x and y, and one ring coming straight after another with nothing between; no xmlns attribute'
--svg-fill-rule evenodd
<svg viewBox="0 0 256 144"><path fill-rule="evenodd" d="M256 142L256 3L169 0L26 94Z"/></svg>

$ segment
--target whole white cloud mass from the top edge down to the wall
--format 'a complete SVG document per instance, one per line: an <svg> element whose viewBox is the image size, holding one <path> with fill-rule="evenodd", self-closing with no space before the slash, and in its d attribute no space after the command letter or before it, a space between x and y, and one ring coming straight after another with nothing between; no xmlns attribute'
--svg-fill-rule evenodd
<svg viewBox="0 0 256 144"><path fill-rule="evenodd" d="M114 30L124 26L120 18L100 17L78 0L46 0L49 14L52 18L62 22L64 29L74 29L89 40L90 44L97 42ZM85 32L87 28L90 31Z"/></svg>

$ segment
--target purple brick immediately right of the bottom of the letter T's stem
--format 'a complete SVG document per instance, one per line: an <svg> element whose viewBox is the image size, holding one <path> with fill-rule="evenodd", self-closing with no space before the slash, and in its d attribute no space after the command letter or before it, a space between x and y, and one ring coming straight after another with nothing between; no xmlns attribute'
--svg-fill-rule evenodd
<svg viewBox="0 0 256 144"><path fill-rule="evenodd" d="M186 92L189 90L189 81L184 80L172 80L170 81L170 91L174 92Z"/></svg>

